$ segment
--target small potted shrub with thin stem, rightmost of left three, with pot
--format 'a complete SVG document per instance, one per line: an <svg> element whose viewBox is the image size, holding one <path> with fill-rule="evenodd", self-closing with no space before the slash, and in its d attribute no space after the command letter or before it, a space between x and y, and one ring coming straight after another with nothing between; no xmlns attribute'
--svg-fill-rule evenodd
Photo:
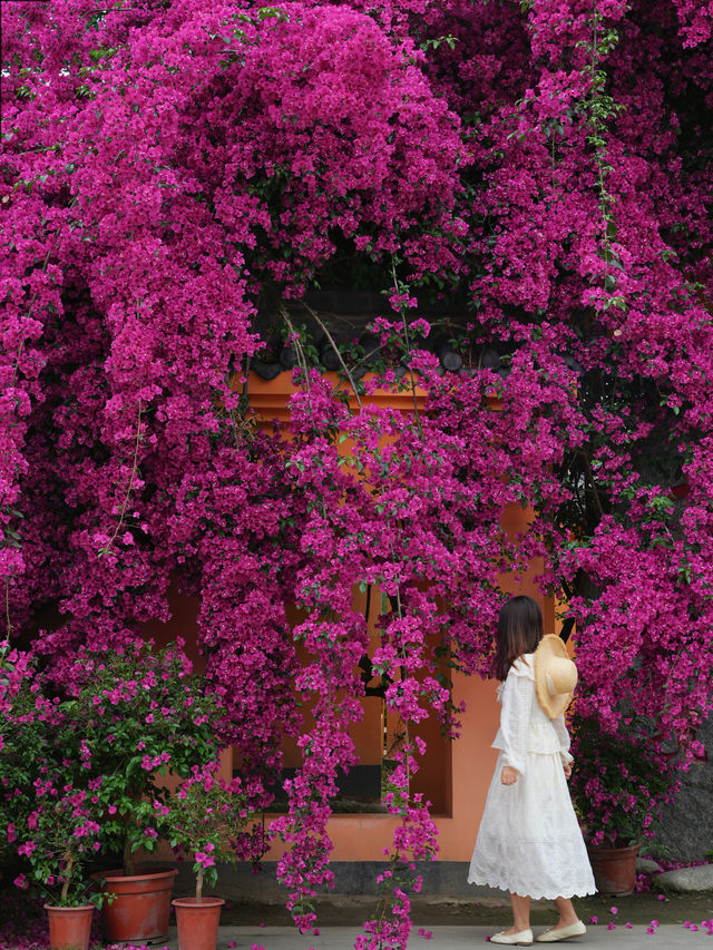
<svg viewBox="0 0 713 950"><path fill-rule="evenodd" d="M236 860L237 838L254 819L238 777L218 776L217 761L195 766L168 804L155 802L169 830L176 852L193 855L195 897L176 898L179 950L214 950L222 898L206 897L204 885L215 887L218 864Z"/></svg>

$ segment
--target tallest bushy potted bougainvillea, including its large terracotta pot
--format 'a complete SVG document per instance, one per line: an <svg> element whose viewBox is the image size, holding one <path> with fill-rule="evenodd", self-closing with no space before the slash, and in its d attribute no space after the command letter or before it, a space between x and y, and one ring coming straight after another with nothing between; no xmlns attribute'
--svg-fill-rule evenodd
<svg viewBox="0 0 713 950"><path fill-rule="evenodd" d="M91 773L101 777L99 820L105 845L123 866L101 875L113 895L104 908L105 936L113 942L160 940L168 931L176 869L137 862L153 853L166 826L153 802L166 802L163 776L186 777L211 761L219 709L203 677L176 643L156 650L135 643L118 650L88 652L71 713L82 724L82 748Z"/></svg>

